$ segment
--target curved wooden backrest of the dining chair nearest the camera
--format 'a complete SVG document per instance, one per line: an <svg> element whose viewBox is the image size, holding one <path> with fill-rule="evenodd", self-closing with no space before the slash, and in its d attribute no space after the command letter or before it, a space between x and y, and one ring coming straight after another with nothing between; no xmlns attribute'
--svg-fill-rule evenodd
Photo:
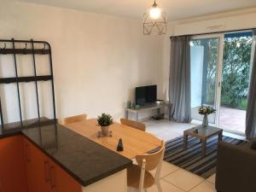
<svg viewBox="0 0 256 192"><path fill-rule="evenodd" d="M163 160L165 153L165 143L164 141L161 142L160 150L157 152L154 152L153 154L139 154L136 156L137 164L138 166L143 165L143 160L146 161L145 170L146 171L152 171L157 166L160 165L161 160Z"/></svg>

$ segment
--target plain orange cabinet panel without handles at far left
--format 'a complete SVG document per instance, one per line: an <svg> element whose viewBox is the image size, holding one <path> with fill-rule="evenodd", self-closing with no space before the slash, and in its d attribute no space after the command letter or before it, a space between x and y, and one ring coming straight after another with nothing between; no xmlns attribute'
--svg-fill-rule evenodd
<svg viewBox="0 0 256 192"><path fill-rule="evenodd" d="M23 137L0 139L0 192L27 192Z"/></svg>

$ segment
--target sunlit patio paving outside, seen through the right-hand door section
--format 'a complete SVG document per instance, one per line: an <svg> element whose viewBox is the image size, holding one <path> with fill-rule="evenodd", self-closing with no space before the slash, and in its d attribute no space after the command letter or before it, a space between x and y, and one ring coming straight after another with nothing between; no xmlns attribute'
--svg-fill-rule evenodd
<svg viewBox="0 0 256 192"><path fill-rule="evenodd" d="M244 134L246 111L236 108L220 108L219 127L225 131Z"/></svg>

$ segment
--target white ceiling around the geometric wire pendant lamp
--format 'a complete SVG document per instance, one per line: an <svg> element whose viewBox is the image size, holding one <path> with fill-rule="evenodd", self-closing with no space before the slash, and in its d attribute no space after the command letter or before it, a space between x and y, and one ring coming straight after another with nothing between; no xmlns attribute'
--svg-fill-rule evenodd
<svg viewBox="0 0 256 192"><path fill-rule="evenodd" d="M17 0L99 14L142 18L154 0ZM157 0L168 20L189 19L235 9L256 7L256 0Z"/></svg>

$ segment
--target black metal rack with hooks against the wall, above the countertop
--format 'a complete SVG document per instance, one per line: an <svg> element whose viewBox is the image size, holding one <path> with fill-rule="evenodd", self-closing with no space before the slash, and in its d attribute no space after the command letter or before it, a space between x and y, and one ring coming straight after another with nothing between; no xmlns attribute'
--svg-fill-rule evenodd
<svg viewBox="0 0 256 192"><path fill-rule="evenodd" d="M11 45L11 48L7 48L7 44ZM24 44L23 49L15 48L16 44ZM30 49L27 48L27 45L30 45ZM42 47L42 49L35 48L35 45ZM53 103L53 113L54 119L56 119L55 115L55 90L54 90L54 78L53 78L53 67L52 67L52 55L51 55L51 47L48 42L45 41L34 41L34 40L15 40L12 39L0 39L0 56L4 55L13 55L14 58L14 66L15 66L15 77L11 78L0 78L0 84L16 84L17 93L18 93L18 103L19 103L19 112L20 112L20 125L23 125L22 119L22 110L20 105L20 83L35 83L35 91L37 97L37 111L38 111L38 121L41 119L40 116L40 106L38 101L38 81L51 81L51 90L52 90L52 103ZM33 66L33 76L20 77L17 70L17 60L16 55L27 55L32 56L32 66ZM37 62L35 55L45 55L49 56L49 74L38 76L37 75ZM4 73L4 72L3 72ZM0 97L0 117L1 117L1 127L4 128L3 122L3 109L1 105L1 97Z"/></svg>

